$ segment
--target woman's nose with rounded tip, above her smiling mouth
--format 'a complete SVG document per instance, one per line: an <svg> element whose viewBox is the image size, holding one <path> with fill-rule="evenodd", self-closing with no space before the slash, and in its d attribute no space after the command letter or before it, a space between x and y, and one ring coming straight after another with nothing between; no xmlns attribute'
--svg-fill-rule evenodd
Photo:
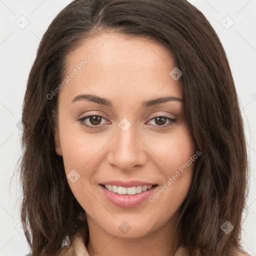
<svg viewBox="0 0 256 256"><path fill-rule="evenodd" d="M123 131L117 126L116 134L109 144L108 164L120 170L131 170L143 166L147 161L146 145L134 126Z"/></svg>

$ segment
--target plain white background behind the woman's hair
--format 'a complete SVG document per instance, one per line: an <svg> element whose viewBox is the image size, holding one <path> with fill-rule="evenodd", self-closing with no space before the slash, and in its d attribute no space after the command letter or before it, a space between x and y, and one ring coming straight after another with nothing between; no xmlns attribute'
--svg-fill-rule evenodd
<svg viewBox="0 0 256 256"><path fill-rule="evenodd" d="M69 2L71 0L0 0L0 256L22 256L29 251L25 236L20 233L18 176L14 175L10 183L21 155L18 124L28 73L40 38ZM242 246L249 254L256 255L256 0L189 2L201 10L214 27L233 73L251 166Z"/></svg>

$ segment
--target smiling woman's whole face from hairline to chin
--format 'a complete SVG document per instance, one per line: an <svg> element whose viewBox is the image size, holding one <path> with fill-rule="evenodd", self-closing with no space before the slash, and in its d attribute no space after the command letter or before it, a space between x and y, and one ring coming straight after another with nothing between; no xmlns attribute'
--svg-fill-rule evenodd
<svg viewBox="0 0 256 256"><path fill-rule="evenodd" d="M197 155L174 67L163 46L115 33L68 55L56 152L89 228L138 237L176 224Z"/></svg>

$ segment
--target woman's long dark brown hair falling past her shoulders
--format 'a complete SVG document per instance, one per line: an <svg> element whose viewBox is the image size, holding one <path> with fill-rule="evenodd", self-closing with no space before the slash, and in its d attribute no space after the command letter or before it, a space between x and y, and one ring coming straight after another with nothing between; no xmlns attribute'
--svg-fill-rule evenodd
<svg viewBox="0 0 256 256"><path fill-rule="evenodd" d="M192 256L236 255L248 190L243 122L221 42L186 0L74 0L47 28L22 109L21 220L29 227L25 236L33 255L58 253L81 230L88 242L84 209L54 148L58 96L47 95L64 78L67 54L102 31L150 37L175 57L189 128L201 152L181 205L182 243ZM233 226L229 234L221 229L226 221Z"/></svg>

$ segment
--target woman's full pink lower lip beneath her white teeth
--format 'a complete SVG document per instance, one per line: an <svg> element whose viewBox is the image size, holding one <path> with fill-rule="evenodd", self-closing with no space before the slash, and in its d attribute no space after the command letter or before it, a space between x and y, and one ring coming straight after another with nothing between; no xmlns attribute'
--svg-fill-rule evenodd
<svg viewBox="0 0 256 256"><path fill-rule="evenodd" d="M111 203L122 208L131 208L139 205L145 199L147 199L157 187L154 185L150 189L146 191L142 191L141 193L137 193L137 194L118 194L118 193L109 191L102 185L99 185L99 186L103 194L107 197L107 199Z"/></svg>

